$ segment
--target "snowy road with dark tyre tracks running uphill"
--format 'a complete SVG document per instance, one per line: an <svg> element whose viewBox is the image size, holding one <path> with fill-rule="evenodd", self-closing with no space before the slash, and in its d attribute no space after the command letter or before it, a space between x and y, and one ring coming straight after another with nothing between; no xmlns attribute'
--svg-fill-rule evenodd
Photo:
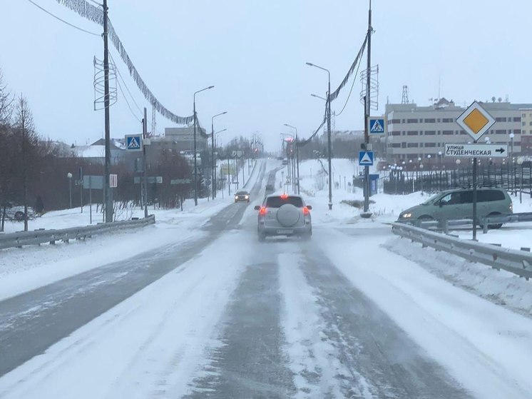
<svg viewBox="0 0 532 399"><path fill-rule="evenodd" d="M389 227L259 243L272 169L200 238L1 301L0 397L532 397L532 320L390 253Z"/></svg>

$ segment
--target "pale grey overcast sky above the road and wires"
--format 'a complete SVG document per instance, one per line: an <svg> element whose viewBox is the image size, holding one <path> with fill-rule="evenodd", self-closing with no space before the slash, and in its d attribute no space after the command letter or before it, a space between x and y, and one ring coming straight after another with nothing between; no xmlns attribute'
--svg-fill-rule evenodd
<svg viewBox="0 0 532 399"><path fill-rule="evenodd" d="M101 33L55 0L34 0L53 14ZM307 137L322 118L327 74L332 90L342 81L367 30L368 1L355 0L108 0L109 16L140 75L159 101L180 116L198 116L210 129L227 128L220 138L260 132L275 150L283 123ZM83 144L103 136L103 111L93 111L93 56L103 44L45 14L27 0L0 0L0 69L11 91L29 100L39 132ZM530 0L373 0L372 64L379 64L379 111L389 96L428 105L438 96L456 103L491 96L531 102L528 50ZM148 106L126 66L111 55L140 107ZM365 57L365 56L364 56ZM364 58L365 65L365 58ZM332 103L344 106L352 81ZM357 76L337 129L363 127ZM125 90L125 89L124 89ZM127 95L127 94L126 94ZM111 136L140 131L123 96L111 108ZM137 118L140 111L129 99ZM148 124L150 126L150 124ZM157 130L173 126L157 116ZM149 127L148 127L149 128ZM222 140L222 141L223 141Z"/></svg>

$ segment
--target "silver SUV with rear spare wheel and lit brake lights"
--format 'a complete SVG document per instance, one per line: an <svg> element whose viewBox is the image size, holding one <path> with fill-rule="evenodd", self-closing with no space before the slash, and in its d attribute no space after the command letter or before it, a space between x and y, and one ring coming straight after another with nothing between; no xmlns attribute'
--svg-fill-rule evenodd
<svg viewBox="0 0 532 399"><path fill-rule="evenodd" d="M257 234L259 241L267 236L300 236L310 240L312 236L312 206L305 205L302 196L288 194L267 196L259 211Z"/></svg>

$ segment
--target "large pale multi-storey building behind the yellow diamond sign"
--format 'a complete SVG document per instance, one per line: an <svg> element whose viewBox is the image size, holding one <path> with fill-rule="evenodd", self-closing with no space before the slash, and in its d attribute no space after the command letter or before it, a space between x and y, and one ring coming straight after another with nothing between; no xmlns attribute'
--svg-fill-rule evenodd
<svg viewBox="0 0 532 399"><path fill-rule="evenodd" d="M513 133L513 153L520 154L523 131L528 136L532 135L532 104L501 101L481 102L481 105L496 120L481 141L485 142L489 138L491 143L509 145L510 135ZM417 106L415 103L387 104L387 161L442 158L445 143L471 142L471 136L456 123L456 118L465 109L446 99L440 99L431 106Z"/></svg>

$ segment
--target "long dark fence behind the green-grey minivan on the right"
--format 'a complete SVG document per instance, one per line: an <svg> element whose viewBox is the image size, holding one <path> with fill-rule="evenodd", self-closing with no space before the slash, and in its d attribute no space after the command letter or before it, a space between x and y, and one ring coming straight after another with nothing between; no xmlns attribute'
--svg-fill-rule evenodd
<svg viewBox="0 0 532 399"><path fill-rule="evenodd" d="M532 165L524 162L521 165L481 165L478 168L477 181L479 186L497 186L506 188L517 195L518 192L529 193L532 197ZM384 178L384 193L408 194L414 191L434 193L451 188L471 187L473 185L473 168L467 166L452 171L399 170L390 169Z"/></svg>

